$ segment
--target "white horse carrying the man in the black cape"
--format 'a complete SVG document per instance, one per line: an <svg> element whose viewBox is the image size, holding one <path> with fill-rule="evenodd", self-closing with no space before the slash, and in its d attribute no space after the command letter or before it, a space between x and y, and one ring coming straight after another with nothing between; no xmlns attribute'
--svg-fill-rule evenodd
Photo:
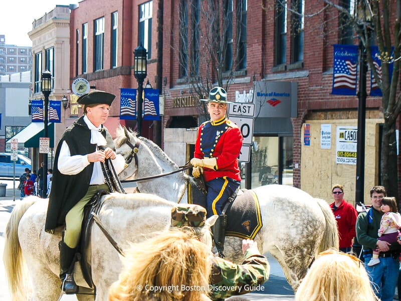
<svg viewBox="0 0 401 301"><path fill-rule="evenodd" d="M98 216L122 249L127 248L129 242L167 229L171 223L171 208L175 205L150 194L112 193L103 196L102 202ZM47 207L48 200L29 197L14 208L7 225L3 259L14 301L61 298L58 248L61 233L44 231ZM96 300L106 301L110 285L118 279L121 262L118 252L95 224L87 257L92 266ZM74 278L78 285L88 286L79 271L74 273ZM77 294L77 298L95 300L94 295Z"/></svg>

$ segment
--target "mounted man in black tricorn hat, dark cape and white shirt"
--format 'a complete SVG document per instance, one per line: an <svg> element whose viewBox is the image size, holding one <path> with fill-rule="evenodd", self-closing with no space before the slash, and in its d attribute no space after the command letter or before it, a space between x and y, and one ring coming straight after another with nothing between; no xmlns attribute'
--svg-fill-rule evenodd
<svg viewBox="0 0 401 301"><path fill-rule="evenodd" d="M59 243L60 278L66 293L77 292L71 273L84 206L96 191L109 191L101 163L111 159L117 174L124 168L124 158L115 154L112 137L103 125L114 98L99 90L80 96L77 102L83 105L84 116L65 130L57 145L45 230L54 233L56 227L66 226Z"/></svg>

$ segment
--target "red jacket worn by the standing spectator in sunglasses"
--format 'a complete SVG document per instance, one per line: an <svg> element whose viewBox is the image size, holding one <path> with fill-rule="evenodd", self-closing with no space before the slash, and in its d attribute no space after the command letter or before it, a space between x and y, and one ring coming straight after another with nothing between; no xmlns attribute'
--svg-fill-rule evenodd
<svg viewBox="0 0 401 301"><path fill-rule="evenodd" d="M356 236L355 223L358 213L355 208L345 200L342 200L342 203L335 211L334 202L330 204L330 207L337 221L340 248L351 247L352 238Z"/></svg>

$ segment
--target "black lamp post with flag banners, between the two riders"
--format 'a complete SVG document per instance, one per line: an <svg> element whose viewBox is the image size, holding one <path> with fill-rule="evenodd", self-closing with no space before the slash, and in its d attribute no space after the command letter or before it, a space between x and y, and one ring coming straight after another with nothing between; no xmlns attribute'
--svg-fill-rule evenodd
<svg viewBox="0 0 401 301"><path fill-rule="evenodd" d="M137 134L141 135L142 130L142 92L143 92L143 81L147 75L147 51L142 46L139 45L134 50L134 76L138 81L138 94L137 94L137 116L136 116L136 123L137 123Z"/></svg>

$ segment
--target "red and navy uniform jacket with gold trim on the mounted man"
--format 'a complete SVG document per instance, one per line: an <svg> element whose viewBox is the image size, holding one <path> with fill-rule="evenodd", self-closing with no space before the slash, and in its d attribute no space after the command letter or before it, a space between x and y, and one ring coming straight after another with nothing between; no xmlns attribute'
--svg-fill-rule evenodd
<svg viewBox="0 0 401 301"><path fill-rule="evenodd" d="M204 168L205 181L227 176L241 181L238 157L242 147L238 126L227 118L200 124L195 143L194 158L216 158L217 169Z"/></svg>

